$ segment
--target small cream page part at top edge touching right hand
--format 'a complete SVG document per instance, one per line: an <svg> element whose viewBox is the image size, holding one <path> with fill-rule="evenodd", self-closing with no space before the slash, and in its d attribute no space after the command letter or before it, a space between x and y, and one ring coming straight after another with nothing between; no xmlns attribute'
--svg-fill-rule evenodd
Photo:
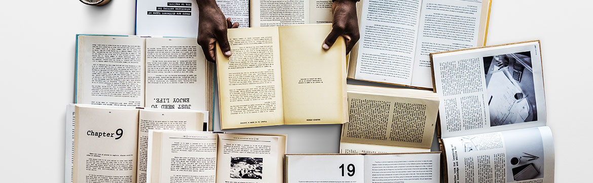
<svg viewBox="0 0 593 183"><path fill-rule="evenodd" d="M308 0L309 1L309 24L326 24L333 20L331 11L331 0Z"/></svg>

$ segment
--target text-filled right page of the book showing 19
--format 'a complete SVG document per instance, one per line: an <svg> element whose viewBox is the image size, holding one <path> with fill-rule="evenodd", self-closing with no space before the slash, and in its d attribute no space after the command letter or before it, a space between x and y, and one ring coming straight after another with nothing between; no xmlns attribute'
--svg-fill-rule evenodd
<svg viewBox="0 0 593 183"><path fill-rule="evenodd" d="M441 182L441 153L366 155L365 182Z"/></svg>

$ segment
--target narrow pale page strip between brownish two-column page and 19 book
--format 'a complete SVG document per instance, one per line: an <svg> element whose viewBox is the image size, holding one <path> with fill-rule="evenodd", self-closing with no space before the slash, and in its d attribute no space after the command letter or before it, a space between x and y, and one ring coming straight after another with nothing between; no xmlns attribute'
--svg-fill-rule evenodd
<svg viewBox="0 0 593 183"><path fill-rule="evenodd" d="M371 145L364 143L340 142L340 153L417 153L431 152L430 148Z"/></svg>

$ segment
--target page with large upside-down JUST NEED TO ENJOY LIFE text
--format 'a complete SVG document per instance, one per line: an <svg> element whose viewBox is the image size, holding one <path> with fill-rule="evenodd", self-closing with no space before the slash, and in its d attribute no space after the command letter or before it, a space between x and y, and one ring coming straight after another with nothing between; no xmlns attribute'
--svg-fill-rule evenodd
<svg viewBox="0 0 593 183"><path fill-rule="evenodd" d="M206 60L196 38L146 38L146 108L206 108Z"/></svg>

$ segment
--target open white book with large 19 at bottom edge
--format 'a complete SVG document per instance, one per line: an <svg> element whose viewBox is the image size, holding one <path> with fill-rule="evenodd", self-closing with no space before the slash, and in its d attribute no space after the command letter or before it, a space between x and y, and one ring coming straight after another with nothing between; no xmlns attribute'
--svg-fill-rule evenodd
<svg viewBox="0 0 593 183"><path fill-rule="evenodd" d="M286 183L439 183L441 152L286 155Z"/></svg>

